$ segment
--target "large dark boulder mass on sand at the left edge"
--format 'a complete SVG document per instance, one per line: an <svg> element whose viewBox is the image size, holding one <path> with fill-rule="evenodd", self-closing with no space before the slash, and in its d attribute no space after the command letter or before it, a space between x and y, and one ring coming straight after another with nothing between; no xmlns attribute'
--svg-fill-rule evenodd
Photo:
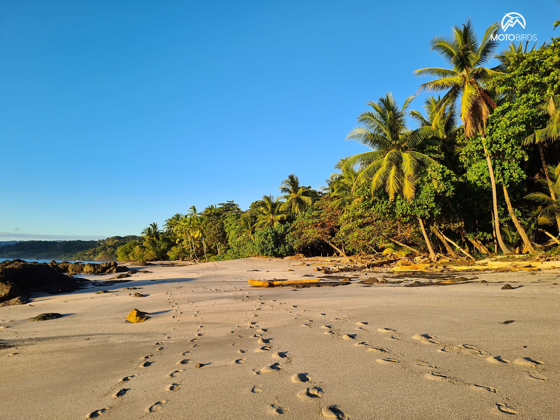
<svg viewBox="0 0 560 420"><path fill-rule="evenodd" d="M27 303L32 292L57 294L71 292L80 282L46 263L12 259L0 263L0 305Z"/></svg>

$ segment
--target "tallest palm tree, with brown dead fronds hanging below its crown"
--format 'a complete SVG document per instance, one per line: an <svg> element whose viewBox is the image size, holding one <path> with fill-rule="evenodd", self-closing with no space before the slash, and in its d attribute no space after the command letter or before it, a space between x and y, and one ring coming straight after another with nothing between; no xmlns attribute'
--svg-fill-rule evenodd
<svg viewBox="0 0 560 420"><path fill-rule="evenodd" d="M479 43L470 19L464 23L463 27L454 26L451 37L436 36L430 41L431 51L440 53L442 58L452 66L452 69L424 68L418 69L414 73L417 76L437 77L431 82L421 84L418 91L447 91L442 98L440 112L460 98L460 116L464 124L465 136L469 138L477 133L480 134L492 185L496 237L502 252L507 253L510 250L503 242L500 233L496 180L490 154L486 148L486 122L490 112L496 107L493 100L494 93L486 89L486 85L493 77L503 73L497 68L484 67L484 64L492 58L492 53L498 46L498 41L492 40L491 37L496 36L499 29L499 23L488 26Z"/></svg>

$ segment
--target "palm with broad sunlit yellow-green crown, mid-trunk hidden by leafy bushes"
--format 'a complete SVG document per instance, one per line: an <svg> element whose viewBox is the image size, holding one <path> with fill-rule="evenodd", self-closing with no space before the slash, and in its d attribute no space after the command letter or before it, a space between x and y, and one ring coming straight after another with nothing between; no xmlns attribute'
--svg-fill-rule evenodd
<svg viewBox="0 0 560 420"><path fill-rule="evenodd" d="M402 108L399 108L391 93L379 98L379 102L368 102L367 105L373 110L362 112L358 116L358 122L362 126L354 128L346 137L360 141L372 149L371 152L349 157L344 164L344 169L357 164L363 167L354 185L371 180L372 194L385 186L390 201L400 194L411 202L416 192L420 169L438 165L432 158L415 150L421 139L407 128L406 123L407 108L413 98L406 98ZM420 216L418 223L430 257L436 259L424 220Z"/></svg>

